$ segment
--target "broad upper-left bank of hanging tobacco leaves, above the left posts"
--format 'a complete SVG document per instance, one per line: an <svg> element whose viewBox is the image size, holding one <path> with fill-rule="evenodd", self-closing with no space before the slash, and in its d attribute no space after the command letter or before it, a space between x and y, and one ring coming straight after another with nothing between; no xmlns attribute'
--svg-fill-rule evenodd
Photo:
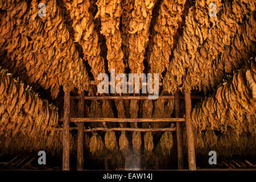
<svg viewBox="0 0 256 182"><path fill-rule="evenodd" d="M52 98L56 98L61 85L64 90L87 90L88 73L60 7L56 0L42 2L46 4L46 16L38 15L39 1L3 1L1 64L35 89L51 89Z"/></svg>

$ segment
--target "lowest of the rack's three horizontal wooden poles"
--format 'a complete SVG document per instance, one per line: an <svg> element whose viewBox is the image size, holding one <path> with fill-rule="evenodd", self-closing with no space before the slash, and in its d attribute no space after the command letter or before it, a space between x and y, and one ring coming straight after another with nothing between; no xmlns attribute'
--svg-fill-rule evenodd
<svg viewBox="0 0 256 182"><path fill-rule="evenodd" d="M56 128L55 130L63 130L63 128ZM70 127L70 130L77 130L77 127ZM132 127L113 127L107 129L105 127L96 127L93 129L84 129L84 132L90 131L176 131L176 127L166 127L166 128L152 128L152 129L141 129Z"/></svg>

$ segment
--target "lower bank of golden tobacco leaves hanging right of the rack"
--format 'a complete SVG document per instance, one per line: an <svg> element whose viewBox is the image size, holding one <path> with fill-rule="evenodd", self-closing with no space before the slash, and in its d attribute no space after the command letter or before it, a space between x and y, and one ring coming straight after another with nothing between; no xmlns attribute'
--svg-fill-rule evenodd
<svg viewBox="0 0 256 182"><path fill-rule="evenodd" d="M242 131L255 134L255 73L256 64L252 59L192 110L193 126L199 131L209 128L225 133L232 127L237 135Z"/></svg>

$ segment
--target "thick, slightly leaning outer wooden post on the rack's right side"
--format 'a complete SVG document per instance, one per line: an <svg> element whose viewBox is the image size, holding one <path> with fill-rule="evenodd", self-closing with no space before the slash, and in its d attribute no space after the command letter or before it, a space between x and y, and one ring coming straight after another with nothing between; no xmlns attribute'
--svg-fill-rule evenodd
<svg viewBox="0 0 256 182"><path fill-rule="evenodd" d="M191 122L191 94L187 90L185 90L185 110L185 122L188 139L188 169L191 171L196 171L195 141L193 135L193 126Z"/></svg>

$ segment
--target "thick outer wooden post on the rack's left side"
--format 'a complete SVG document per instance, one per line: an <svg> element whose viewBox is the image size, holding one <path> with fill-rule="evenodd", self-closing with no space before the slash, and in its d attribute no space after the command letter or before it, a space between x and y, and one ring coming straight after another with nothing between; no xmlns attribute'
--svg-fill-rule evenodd
<svg viewBox="0 0 256 182"><path fill-rule="evenodd" d="M70 122L70 92L64 92L64 122L63 122L63 159L62 169L69 171L69 122Z"/></svg>

